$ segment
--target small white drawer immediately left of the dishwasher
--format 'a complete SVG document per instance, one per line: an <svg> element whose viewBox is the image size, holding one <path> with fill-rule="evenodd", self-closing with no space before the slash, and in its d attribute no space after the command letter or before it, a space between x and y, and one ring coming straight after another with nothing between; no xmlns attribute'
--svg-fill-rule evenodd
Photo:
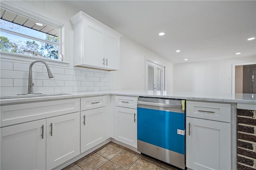
<svg viewBox="0 0 256 170"><path fill-rule="evenodd" d="M137 109L138 97L116 96L116 106Z"/></svg>

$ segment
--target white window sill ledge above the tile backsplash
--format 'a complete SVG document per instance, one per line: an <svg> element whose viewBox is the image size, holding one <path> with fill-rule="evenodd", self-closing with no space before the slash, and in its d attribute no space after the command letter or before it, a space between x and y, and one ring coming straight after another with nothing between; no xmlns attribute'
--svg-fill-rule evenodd
<svg viewBox="0 0 256 170"><path fill-rule="evenodd" d="M35 60L43 60L43 61L46 61L48 64L59 65L59 66L63 66L63 67L68 67L68 65L69 65L69 63L64 62L64 61L58 61L58 60L54 60L54 59L41 58L41 57L32 57L29 55L10 53L10 52L6 52L6 51L0 51L0 58L1 59L12 59L12 60L18 60L18 61L28 61L28 62L33 62Z"/></svg>

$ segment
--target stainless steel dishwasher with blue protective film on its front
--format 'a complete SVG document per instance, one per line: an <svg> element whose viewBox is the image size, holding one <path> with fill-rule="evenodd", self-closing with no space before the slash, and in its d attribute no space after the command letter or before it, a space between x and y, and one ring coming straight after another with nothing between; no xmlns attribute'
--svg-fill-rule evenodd
<svg viewBox="0 0 256 170"><path fill-rule="evenodd" d="M139 97L138 151L185 169L185 100Z"/></svg>

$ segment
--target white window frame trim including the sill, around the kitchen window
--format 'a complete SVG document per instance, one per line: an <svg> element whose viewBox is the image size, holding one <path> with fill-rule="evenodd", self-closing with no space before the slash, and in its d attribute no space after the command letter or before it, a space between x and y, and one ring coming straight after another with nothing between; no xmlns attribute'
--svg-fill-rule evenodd
<svg viewBox="0 0 256 170"><path fill-rule="evenodd" d="M45 57L35 57L30 55L11 53L7 51L0 51L0 58L3 59L14 59L20 61L34 61L34 60L44 60L53 65L61 65L68 66L68 62L65 62L64 55L64 25L59 22L47 18L46 16L41 16L35 12L30 11L29 9L22 8L22 6L18 6L17 4L13 4L11 1L1 1L1 8L5 10L9 10L11 12L20 14L22 16L26 16L33 20L37 20L39 22L43 22L49 26L53 26L58 28L58 60L56 59L48 59ZM60 60L60 55L62 55L62 60Z"/></svg>

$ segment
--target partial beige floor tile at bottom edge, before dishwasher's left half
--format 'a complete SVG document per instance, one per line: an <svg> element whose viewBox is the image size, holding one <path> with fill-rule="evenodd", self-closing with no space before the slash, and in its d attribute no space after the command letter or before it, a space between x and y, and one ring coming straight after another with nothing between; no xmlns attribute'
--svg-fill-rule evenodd
<svg viewBox="0 0 256 170"><path fill-rule="evenodd" d="M158 170L159 166L139 158L136 162L129 168L129 170Z"/></svg>

